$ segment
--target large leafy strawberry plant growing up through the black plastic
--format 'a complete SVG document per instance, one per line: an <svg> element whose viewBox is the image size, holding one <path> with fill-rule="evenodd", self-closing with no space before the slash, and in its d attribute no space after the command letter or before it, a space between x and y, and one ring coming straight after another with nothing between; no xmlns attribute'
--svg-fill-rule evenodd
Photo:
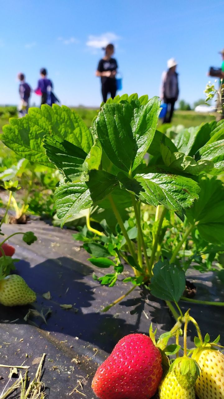
<svg viewBox="0 0 224 399"><path fill-rule="evenodd" d="M172 141L156 129L159 112L157 97L117 96L101 105L88 129L75 111L43 105L11 119L2 141L29 161L63 172L55 189L61 227L78 213L85 215L85 234L79 233L79 239L89 260L99 270L111 269L94 279L112 287L129 265L133 273L123 282L132 288L124 296L144 284L176 315L171 302L179 308L186 269L179 254L189 235L199 234L217 251L223 248L224 189L217 176L224 170L224 124L185 129ZM145 204L155 209L149 238L142 219ZM134 225L128 224L127 209ZM164 237L174 215L184 231L181 237L177 232L165 256ZM164 281L171 277L173 292L165 295Z"/></svg>

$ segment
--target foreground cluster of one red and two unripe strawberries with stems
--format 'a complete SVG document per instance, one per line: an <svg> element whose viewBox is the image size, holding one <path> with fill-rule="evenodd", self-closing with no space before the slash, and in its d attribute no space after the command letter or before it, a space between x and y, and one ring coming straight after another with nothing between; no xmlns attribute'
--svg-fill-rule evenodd
<svg viewBox="0 0 224 399"><path fill-rule="evenodd" d="M189 322L195 325L198 334L194 340L195 348L191 349L187 348ZM116 344L92 380L92 389L99 399L150 399L157 389L160 399L194 399L195 393L199 399L224 397L224 356L218 350L223 348L218 345L220 336L210 342L206 334L203 340L198 323L189 310L157 341L155 334L151 325L150 338L130 334ZM180 345L182 335L183 350ZM169 344L172 337L176 337L176 344Z"/></svg>

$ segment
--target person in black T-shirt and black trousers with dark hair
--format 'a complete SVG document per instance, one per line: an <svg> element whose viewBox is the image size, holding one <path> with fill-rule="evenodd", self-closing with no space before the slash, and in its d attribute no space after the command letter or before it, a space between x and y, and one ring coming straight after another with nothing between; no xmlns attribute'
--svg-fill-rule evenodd
<svg viewBox="0 0 224 399"><path fill-rule="evenodd" d="M115 58L112 58L112 55L114 54L113 44L108 44L104 50L105 55L98 63L96 76L101 78L102 97L104 103L106 103L108 93L110 93L112 99L116 96L116 73L118 63Z"/></svg>

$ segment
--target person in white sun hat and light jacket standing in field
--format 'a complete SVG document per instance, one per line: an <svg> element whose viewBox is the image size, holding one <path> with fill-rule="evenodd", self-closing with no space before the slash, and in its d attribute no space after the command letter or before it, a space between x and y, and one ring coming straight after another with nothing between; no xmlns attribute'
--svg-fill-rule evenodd
<svg viewBox="0 0 224 399"><path fill-rule="evenodd" d="M162 74L161 99L167 104L167 113L163 123L170 123L173 117L174 105L179 95L177 62L174 58L168 59L167 71Z"/></svg>

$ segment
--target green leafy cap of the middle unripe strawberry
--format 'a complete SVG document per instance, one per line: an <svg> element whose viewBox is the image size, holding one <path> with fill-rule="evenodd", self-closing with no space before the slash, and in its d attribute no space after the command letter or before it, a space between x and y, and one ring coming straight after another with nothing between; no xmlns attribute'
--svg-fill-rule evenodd
<svg viewBox="0 0 224 399"><path fill-rule="evenodd" d="M200 369L196 361L186 356L175 359L170 369L173 370L181 387L185 389L193 387L200 375Z"/></svg>

